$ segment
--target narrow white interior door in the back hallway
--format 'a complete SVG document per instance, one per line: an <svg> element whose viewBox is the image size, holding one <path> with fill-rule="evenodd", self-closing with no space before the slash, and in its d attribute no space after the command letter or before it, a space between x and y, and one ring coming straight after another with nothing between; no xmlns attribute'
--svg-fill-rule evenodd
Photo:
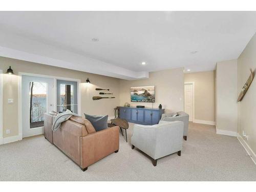
<svg viewBox="0 0 256 192"><path fill-rule="evenodd" d="M184 86L184 111L189 115L189 121L193 121L193 84L185 84Z"/></svg>

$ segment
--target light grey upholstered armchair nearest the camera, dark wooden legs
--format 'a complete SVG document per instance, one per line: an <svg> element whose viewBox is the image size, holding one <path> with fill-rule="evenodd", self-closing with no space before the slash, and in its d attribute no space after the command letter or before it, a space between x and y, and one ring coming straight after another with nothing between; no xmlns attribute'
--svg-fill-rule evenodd
<svg viewBox="0 0 256 192"><path fill-rule="evenodd" d="M182 121L160 121L155 125L135 124L131 138L132 149L136 146L153 158L153 165L157 165L157 159L178 152L181 156L183 141Z"/></svg>

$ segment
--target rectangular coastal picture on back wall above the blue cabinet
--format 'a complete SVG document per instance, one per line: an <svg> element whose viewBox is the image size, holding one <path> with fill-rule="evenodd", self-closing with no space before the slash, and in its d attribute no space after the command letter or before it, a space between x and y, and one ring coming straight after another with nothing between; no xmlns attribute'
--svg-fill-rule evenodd
<svg viewBox="0 0 256 192"><path fill-rule="evenodd" d="M155 86L131 87L131 101L155 102Z"/></svg>

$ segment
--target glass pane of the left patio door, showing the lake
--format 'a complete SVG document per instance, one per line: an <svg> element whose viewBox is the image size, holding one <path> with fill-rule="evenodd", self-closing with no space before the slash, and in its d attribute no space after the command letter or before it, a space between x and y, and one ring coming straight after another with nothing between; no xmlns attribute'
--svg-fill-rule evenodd
<svg viewBox="0 0 256 192"><path fill-rule="evenodd" d="M44 113L47 107L47 83L29 82L30 129L44 126Z"/></svg>

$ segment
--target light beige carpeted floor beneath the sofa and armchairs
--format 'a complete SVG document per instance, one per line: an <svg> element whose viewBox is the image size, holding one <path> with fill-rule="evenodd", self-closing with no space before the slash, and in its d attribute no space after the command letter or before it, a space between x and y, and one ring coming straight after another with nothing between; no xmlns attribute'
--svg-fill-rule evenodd
<svg viewBox="0 0 256 192"><path fill-rule="evenodd" d="M181 157L161 158L157 166L131 149L120 148L82 172L44 136L0 146L0 181L256 181L256 165L235 137L217 135L215 126L189 123Z"/></svg>

